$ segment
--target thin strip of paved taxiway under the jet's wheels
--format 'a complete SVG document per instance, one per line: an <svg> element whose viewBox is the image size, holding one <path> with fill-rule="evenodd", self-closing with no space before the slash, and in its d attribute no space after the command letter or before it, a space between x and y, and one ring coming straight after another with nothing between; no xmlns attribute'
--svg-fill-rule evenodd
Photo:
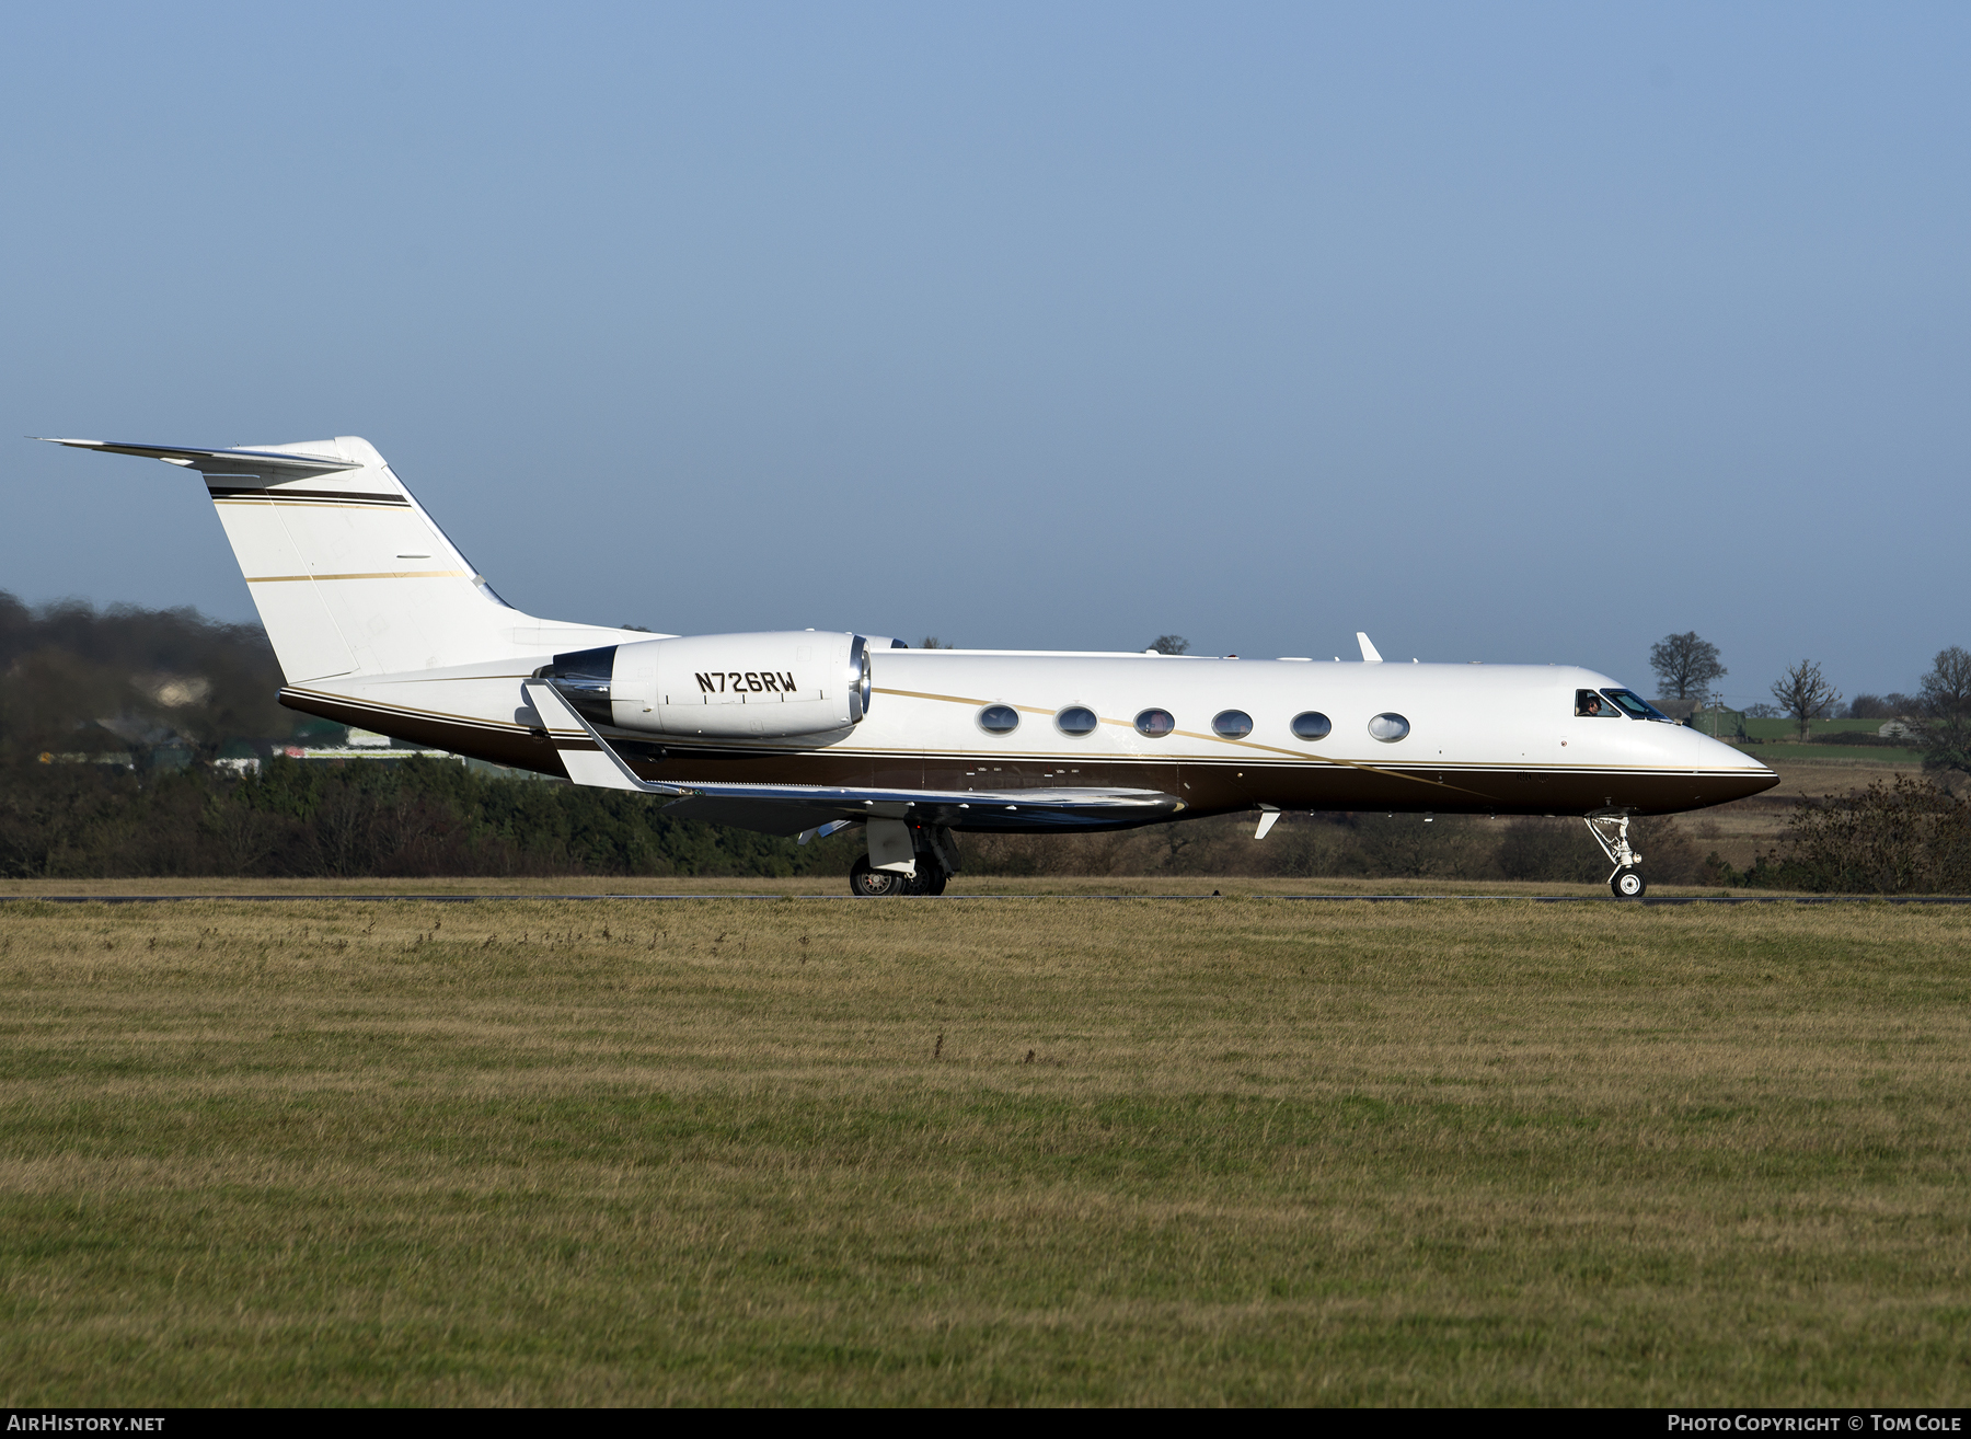
<svg viewBox="0 0 1971 1439"><path fill-rule="evenodd" d="M1971 895L1644 895L1616 899L1614 895L1246 895L1248 899L1285 899L1319 905L1429 905L1445 901L1529 903L1529 905L1971 905ZM274 903L355 903L384 905L390 901L420 905L477 905L499 901L769 901L769 899L828 899L840 903L877 903L859 895L0 895L0 903L43 905L183 905L193 901L237 899L248 905ZM920 905L972 905L1009 899L1157 899L1210 901L1224 895L897 895Z"/></svg>

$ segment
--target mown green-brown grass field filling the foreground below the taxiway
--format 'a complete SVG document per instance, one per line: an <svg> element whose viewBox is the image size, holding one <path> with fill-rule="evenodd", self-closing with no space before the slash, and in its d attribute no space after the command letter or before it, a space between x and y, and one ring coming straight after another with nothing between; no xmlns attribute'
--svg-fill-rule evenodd
<svg viewBox="0 0 1971 1439"><path fill-rule="evenodd" d="M1971 1398L1971 915L0 905L0 1404Z"/></svg>

